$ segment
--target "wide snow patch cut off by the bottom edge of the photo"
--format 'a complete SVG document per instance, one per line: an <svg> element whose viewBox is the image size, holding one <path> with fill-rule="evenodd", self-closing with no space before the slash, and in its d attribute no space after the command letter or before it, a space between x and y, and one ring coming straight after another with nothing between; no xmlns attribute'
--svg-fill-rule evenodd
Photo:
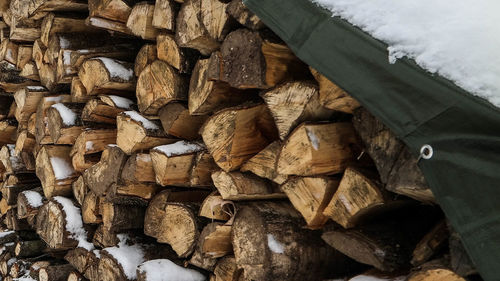
<svg viewBox="0 0 500 281"><path fill-rule="evenodd" d="M150 260L141 264L138 271L145 273L148 281L204 281L200 272L184 268L167 259Z"/></svg>

